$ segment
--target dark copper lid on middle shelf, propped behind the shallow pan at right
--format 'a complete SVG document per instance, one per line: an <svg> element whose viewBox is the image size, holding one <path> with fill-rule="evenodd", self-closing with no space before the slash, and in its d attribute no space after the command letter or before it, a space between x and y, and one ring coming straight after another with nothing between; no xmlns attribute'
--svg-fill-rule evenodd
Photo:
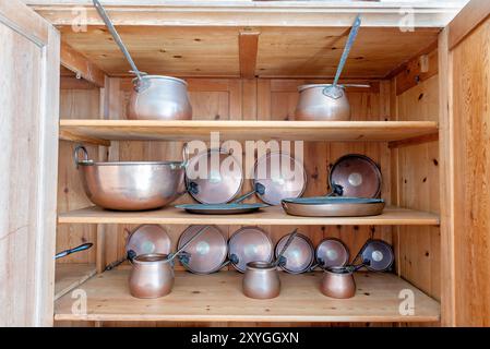
<svg viewBox="0 0 490 349"><path fill-rule="evenodd" d="M330 172L330 184L342 186L343 196L379 197L382 176L378 165L367 156L350 154L340 157Z"/></svg>

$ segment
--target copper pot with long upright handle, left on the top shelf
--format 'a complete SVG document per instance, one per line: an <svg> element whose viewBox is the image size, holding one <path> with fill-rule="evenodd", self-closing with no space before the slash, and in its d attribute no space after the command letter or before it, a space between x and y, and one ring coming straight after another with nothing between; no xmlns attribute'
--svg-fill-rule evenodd
<svg viewBox="0 0 490 349"><path fill-rule="evenodd" d="M128 106L128 119L138 120L191 120L192 106L189 101L188 84L177 77L146 75L134 63L119 33L109 20L98 0L93 0L100 17L131 65L133 89Z"/></svg>

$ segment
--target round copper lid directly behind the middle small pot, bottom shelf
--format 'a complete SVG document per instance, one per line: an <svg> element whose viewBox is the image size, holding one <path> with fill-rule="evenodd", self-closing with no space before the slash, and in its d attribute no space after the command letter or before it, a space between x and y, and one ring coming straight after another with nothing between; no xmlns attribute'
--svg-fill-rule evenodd
<svg viewBox="0 0 490 349"><path fill-rule="evenodd" d="M247 263L267 262L273 258L273 246L267 233L258 227L238 229L229 239L228 256L235 268L244 273Z"/></svg>

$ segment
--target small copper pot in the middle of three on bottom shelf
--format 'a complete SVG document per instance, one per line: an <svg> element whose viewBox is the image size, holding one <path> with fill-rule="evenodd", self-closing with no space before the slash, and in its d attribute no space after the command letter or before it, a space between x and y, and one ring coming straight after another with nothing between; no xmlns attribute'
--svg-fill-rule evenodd
<svg viewBox="0 0 490 349"><path fill-rule="evenodd" d="M277 266L267 262L250 262L243 276L243 294L254 299L271 299L280 293Z"/></svg>

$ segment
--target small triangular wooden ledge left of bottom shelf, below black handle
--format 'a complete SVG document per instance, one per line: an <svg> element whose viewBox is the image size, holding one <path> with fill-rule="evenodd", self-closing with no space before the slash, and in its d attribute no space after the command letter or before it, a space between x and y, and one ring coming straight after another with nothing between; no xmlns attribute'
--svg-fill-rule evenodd
<svg viewBox="0 0 490 349"><path fill-rule="evenodd" d="M67 294L96 274L95 264L61 264L56 265L55 300Z"/></svg>

